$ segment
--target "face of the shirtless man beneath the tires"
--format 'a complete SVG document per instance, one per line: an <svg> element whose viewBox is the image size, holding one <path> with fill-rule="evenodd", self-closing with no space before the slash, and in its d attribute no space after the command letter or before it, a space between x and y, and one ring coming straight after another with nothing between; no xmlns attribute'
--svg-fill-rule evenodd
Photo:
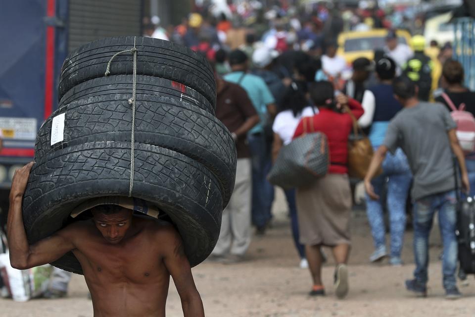
<svg viewBox="0 0 475 317"><path fill-rule="evenodd" d="M126 208L110 214L93 211L93 215L95 227L111 244L118 244L132 223L132 211Z"/></svg>

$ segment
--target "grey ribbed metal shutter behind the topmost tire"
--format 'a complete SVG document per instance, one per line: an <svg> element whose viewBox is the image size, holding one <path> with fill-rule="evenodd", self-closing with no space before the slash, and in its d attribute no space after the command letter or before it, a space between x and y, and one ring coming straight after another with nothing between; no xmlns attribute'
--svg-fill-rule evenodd
<svg viewBox="0 0 475 317"><path fill-rule="evenodd" d="M71 52L101 38L142 35L142 0L69 0Z"/></svg>

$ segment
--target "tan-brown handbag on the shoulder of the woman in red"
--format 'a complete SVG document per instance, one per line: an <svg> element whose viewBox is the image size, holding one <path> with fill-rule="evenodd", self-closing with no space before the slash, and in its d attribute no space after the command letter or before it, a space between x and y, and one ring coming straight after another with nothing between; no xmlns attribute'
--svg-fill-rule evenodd
<svg viewBox="0 0 475 317"><path fill-rule="evenodd" d="M353 120L353 134L348 137L348 175L363 179L370 167L371 159L373 158L373 146L370 139L365 135L358 121L351 112L348 106L344 106L345 111ZM379 167L375 176L382 173L382 168Z"/></svg>

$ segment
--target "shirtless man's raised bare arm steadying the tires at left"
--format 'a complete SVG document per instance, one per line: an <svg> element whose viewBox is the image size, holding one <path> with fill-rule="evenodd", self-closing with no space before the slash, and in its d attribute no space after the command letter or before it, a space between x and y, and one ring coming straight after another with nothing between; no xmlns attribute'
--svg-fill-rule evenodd
<svg viewBox="0 0 475 317"><path fill-rule="evenodd" d="M28 163L15 172L10 190L7 239L10 263L12 267L17 269L27 269L53 262L74 249L74 245L68 238L69 234L65 229L32 246L28 244L23 225L21 203L32 166L33 162Z"/></svg>

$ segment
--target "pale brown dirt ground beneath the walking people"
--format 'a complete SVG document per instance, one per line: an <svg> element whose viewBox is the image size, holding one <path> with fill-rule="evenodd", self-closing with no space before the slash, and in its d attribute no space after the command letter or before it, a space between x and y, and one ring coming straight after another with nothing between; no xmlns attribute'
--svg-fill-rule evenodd
<svg viewBox="0 0 475 317"><path fill-rule="evenodd" d="M247 261L239 264L204 262L193 268L193 275L208 317L475 317L475 279L460 286L464 298L444 299L441 285L441 252L438 229L433 230L430 248L429 296L415 298L404 289L412 276L412 233L406 233L402 267L385 263L368 264L373 249L364 211L355 211L352 220L353 250L350 259L350 293L345 300L333 295L331 251L324 267L327 296L311 298L308 270L298 268L289 220L282 193L274 206L272 228L262 237L253 237ZM74 275L69 297L58 300L31 300L14 303L0 299L1 317L87 317L92 304L80 275ZM173 283L167 302L167 316L183 316L180 298Z"/></svg>

